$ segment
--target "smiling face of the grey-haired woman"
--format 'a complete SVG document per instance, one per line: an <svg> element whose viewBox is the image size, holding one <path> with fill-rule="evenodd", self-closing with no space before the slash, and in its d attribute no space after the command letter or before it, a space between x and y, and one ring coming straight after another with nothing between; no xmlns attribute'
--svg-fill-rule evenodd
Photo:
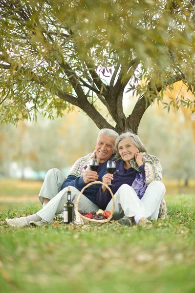
<svg viewBox="0 0 195 293"><path fill-rule="evenodd" d="M139 152L139 148L136 147L130 137L123 139L118 144L118 151L123 161L130 161L134 158L136 152Z"/></svg>

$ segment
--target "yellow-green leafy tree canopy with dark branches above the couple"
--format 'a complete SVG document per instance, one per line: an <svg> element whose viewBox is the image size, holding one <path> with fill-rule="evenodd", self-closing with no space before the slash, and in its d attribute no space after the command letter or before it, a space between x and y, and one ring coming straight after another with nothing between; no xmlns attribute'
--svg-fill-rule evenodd
<svg viewBox="0 0 195 293"><path fill-rule="evenodd" d="M137 133L151 103L195 92L195 0L0 0L0 123L80 107L99 127ZM108 82L109 77L109 82ZM124 91L138 96L128 117ZM104 117L98 105L108 109ZM192 107L185 97L173 105ZM101 108L101 106L99 106Z"/></svg>

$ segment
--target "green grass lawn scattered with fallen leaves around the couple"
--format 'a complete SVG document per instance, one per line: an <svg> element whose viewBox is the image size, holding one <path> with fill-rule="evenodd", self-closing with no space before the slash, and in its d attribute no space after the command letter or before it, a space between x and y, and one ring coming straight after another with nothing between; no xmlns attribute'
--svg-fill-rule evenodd
<svg viewBox="0 0 195 293"><path fill-rule="evenodd" d="M152 229L117 222L11 229L5 217L40 209L38 200L14 206L14 197L9 209L1 205L1 293L195 292L195 194L165 197L168 217Z"/></svg>

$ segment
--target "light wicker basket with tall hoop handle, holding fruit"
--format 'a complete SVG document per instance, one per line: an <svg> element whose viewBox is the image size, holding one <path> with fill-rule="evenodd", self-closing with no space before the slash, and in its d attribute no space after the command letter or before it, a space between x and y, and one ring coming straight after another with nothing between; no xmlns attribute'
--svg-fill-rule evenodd
<svg viewBox="0 0 195 293"><path fill-rule="evenodd" d="M81 197L81 194L83 193L83 191L84 191L87 187L89 187L89 186L91 186L91 185L93 185L93 184L102 184L102 185L104 185L106 188L108 188L108 190L109 190L109 192L110 192L110 194L111 194L111 196L112 196L113 207L112 207L112 209L110 210L110 213L111 213L111 214L110 214L110 216L108 217L108 219L105 219L105 220L89 219L89 218L83 216L82 214L80 214L80 212L78 211L79 199L80 199L80 197ZM79 225L79 224L86 224L86 223L90 223L90 224L102 224L102 223L107 223L107 222L109 222L109 221L111 220L111 218L112 218L112 215L113 215L113 213L114 213L114 208L115 208L115 204L114 204L114 195L113 195L111 189L109 188L109 186L108 186L107 184L101 182L101 181L91 182L91 183L88 183L88 184L87 184L87 185L81 190L81 192L80 192L79 195L78 195L78 198L77 198L77 201L76 201L76 204L75 204L75 207L74 207L74 210L75 210L74 221L75 221L75 223L76 223L77 225Z"/></svg>

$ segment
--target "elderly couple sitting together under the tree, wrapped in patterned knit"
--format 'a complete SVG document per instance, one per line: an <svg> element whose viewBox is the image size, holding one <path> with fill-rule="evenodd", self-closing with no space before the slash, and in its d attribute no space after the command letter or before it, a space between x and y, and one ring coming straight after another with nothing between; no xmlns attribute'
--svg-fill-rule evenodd
<svg viewBox="0 0 195 293"><path fill-rule="evenodd" d="M115 154L116 149L116 154ZM97 171L89 168L92 157L99 163ZM107 173L108 160L116 160L114 174ZM140 138L126 132L118 136L111 130L100 130L95 151L80 158L70 169L67 178L54 168L44 179L39 199L43 209L27 217L6 219L10 227L43 226L51 224L54 216L63 211L67 200L67 187L71 187L72 202L89 182L102 181L109 184L114 194L115 210L112 219L119 219L122 225L151 225L150 218L165 217L166 204L163 199L165 186L159 160L148 154ZM79 200L79 209L97 211L112 209L110 192L100 184L86 188Z"/></svg>

